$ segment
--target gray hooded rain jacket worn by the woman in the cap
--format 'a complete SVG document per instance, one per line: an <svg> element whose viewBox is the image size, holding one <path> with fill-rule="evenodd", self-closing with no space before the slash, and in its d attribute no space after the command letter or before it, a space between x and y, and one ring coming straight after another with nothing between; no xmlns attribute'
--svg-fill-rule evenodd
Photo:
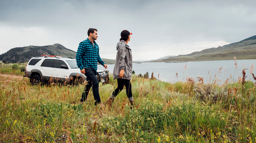
<svg viewBox="0 0 256 143"><path fill-rule="evenodd" d="M119 73L124 70L122 79L132 78L133 57L131 48L125 43L124 40L120 40L117 43L117 57L114 66L113 77L114 79L120 78Z"/></svg>

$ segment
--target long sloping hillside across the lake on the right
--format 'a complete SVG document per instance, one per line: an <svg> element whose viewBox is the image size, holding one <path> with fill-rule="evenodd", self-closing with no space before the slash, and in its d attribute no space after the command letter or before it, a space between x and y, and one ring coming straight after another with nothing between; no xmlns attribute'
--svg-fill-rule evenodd
<svg viewBox="0 0 256 143"><path fill-rule="evenodd" d="M155 60L154 62L233 60L233 57L236 57L236 59L256 59L256 35L222 47L204 49L187 55Z"/></svg>

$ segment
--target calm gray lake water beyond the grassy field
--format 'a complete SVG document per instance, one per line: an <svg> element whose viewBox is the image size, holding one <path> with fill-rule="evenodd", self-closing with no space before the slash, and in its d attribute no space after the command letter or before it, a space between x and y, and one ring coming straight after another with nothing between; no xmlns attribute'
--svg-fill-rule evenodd
<svg viewBox="0 0 256 143"><path fill-rule="evenodd" d="M227 78L231 76L231 82L235 82L239 77L242 77L242 70L245 70L247 75L246 80L251 80L254 82L249 69L252 67L256 59L252 60L237 60L238 71L236 69L234 60L221 60L221 61L198 61L198 62L177 62L177 63L165 63L165 62L146 62L146 63L133 63L133 70L135 74L144 75L146 72L154 72L156 78L159 77L161 81L166 82L177 82L186 81L186 78L194 78L195 81L198 80L197 77L203 77L204 83L212 83L214 76L217 76L219 83L222 84ZM186 68L185 68L186 66ZM221 70L219 70L222 67ZM104 70L104 67L98 65L98 69ZM114 64L108 65L108 71L113 73ZM178 74L178 78L176 76ZM253 71L252 71L253 73ZM245 76L246 76L245 75Z"/></svg>

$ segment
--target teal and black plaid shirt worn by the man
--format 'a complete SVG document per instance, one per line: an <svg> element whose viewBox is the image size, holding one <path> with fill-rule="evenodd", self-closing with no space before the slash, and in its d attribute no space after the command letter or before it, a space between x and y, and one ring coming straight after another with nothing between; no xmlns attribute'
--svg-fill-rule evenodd
<svg viewBox="0 0 256 143"><path fill-rule="evenodd" d="M93 43L88 38L80 42L75 59L80 70L90 67L96 71L97 62L102 66L105 64L99 56L98 44L94 41L93 46Z"/></svg>

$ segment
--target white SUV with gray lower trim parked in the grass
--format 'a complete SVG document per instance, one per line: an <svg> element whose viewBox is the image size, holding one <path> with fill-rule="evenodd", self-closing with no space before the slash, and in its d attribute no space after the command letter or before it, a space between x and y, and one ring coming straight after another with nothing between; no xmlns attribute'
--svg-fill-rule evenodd
<svg viewBox="0 0 256 143"><path fill-rule="evenodd" d="M64 82L79 84L86 81L86 76L80 72L74 58L62 56L36 56L32 57L25 69L25 76L30 78L32 85L41 82ZM97 70L99 82L107 84L109 75L107 71Z"/></svg>

